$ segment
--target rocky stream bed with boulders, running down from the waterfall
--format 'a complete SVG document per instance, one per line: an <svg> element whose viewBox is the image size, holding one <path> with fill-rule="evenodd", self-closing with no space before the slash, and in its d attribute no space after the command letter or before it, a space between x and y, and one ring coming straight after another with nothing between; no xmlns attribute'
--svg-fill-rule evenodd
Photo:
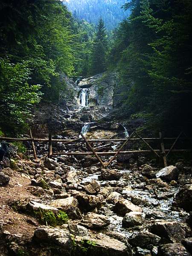
<svg viewBox="0 0 192 256"><path fill-rule="evenodd" d="M98 88L90 88L92 105L78 102L76 88L76 104L60 109L67 129L55 138L76 139L80 131L89 138L128 137L131 127L124 123L99 121L110 117L114 95L98 98ZM93 156L33 160L26 145L28 157L13 150L11 161L1 162L0 256L192 255L191 161L162 169L155 159L129 154L104 169ZM42 157L47 144L35 146ZM94 147L112 151L119 144ZM88 151L82 143L54 143L53 150Z"/></svg>

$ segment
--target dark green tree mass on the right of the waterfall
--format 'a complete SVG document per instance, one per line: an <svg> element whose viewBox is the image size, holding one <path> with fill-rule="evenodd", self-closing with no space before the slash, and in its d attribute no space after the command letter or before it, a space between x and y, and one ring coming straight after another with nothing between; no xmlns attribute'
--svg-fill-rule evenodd
<svg viewBox="0 0 192 256"><path fill-rule="evenodd" d="M124 111L139 113L153 130L188 129L191 1L132 0L124 7L132 13L115 32L109 54L126 95Z"/></svg>

